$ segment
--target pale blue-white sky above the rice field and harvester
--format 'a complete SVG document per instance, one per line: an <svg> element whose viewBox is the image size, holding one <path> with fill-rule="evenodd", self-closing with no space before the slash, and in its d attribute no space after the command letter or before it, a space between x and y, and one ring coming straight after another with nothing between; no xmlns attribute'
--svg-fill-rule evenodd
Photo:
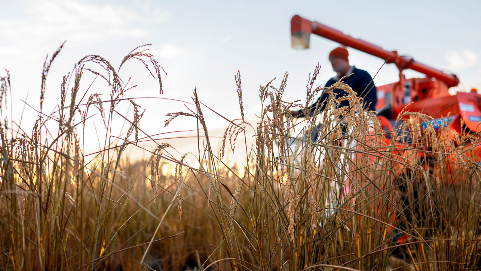
<svg viewBox="0 0 481 271"><path fill-rule="evenodd" d="M46 54L50 57L63 41L66 43L47 79L46 112L55 110L63 75L72 71L83 56L101 55L118 67L130 50L151 43L150 52L167 72L162 76L164 94L159 95L158 81L142 64L131 60L119 75L125 81L131 77L132 84L138 87L127 92L125 97L163 97L189 103L196 88L201 102L228 119L236 119L240 118L240 109L234 75L239 70L246 120L255 127L255 114L261 109L259 85L276 77L273 85L279 86L287 71L289 79L283 100L301 99L304 102L309 72L317 63L321 70L316 85L324 85L335 75L327 56L339 45L336 42L313 35L309 49L291 48L290 21L295 14L452 72L461 81L452 91L481 89L481 2L475 0L0 2L0 68L11 73L13 116L10 118L17 123L21 118L25 131L31 131L38 116L30 107L39 108ZM379 70L375 78L377 85L398 80L398 71L392 64L381 68L383 60L348 50L351 64L371 75ZM92 65L92 68L98 67ZM0 75L5 76L5 71L0 70ZM413 71L406 71L405 75L407 78L423 77ZM93 76L85 76L84 92L93 80ZM102 99L109 99L108 88L98 79L89 93L99 93ZM149 135L197 127L192 118L179 117L164 128L165 114L186 111L184 102L158 98L136 101L146 110L141 125ZM133 115L127 103L119 111L130 118ZM228 122L207 108L204 114L210 135L222 136ZM102 145L98 135L103 131L103 124L98 121L95 126L86 126L88 132L84 140L89 151ZM118 131L115 132L121 136L127 124L122 120L116 124ZM194 134L172 133L155 138L159 138L157 143L170 143L183 153L197 151L192 147L197 140L168 137ZM153 149L155 145L146 143L145 147ZM145 155L131 151L133 156Z"/></svg>

